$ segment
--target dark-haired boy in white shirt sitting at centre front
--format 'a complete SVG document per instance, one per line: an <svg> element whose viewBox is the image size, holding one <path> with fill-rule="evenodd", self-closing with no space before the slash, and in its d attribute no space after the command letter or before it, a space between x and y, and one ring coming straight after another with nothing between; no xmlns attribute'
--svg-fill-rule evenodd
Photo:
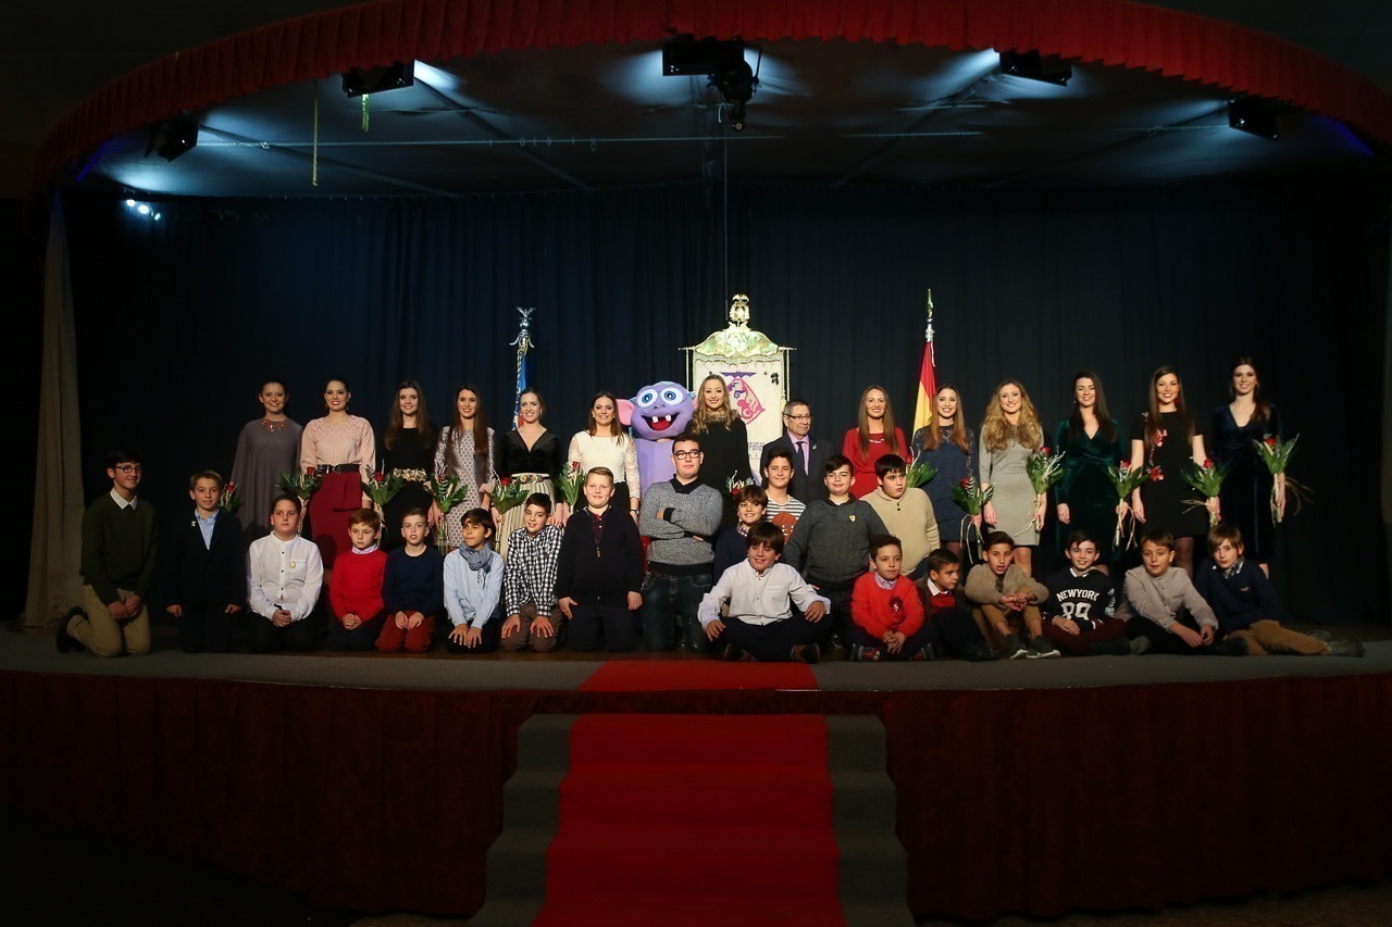
<svg viewBox="0 0 1392 927"><path fill-rule="evenodd" d="M782 532L768 522L749 529L749 555L724 572L702 599L696 615L710 640L724 635L725 660L817 663L824 639L821 619L831 603L798 571L780 564ZM728 617L720 607L729 601ZM792 614L796 603L802 615Z"/></svg>

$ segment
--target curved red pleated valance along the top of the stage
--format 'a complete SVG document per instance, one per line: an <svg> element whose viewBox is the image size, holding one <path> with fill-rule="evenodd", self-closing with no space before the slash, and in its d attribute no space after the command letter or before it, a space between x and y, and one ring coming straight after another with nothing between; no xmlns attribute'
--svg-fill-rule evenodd
<svg viewBox="0 0 1392 927"><path fill-rule="evenodd" d="M383 0L244 32L113 81L49 134L32 185L114 135L262 88L391 61L674 32L1037 49L1290 100L1392 143L1392 96L1352 71L1261 32L1125 0Z"/></svg>

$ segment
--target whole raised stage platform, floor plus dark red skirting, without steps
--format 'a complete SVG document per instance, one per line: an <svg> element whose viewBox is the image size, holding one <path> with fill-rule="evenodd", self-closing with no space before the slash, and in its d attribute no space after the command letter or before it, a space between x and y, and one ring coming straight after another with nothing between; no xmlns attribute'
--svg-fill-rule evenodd
<svg viewBox="0 0 1392 927"><path fill-rule="evenodd" d="M1392 777L1388 640L1357 660L809 668L188 656L163 631L148 657L97 661L7 633L0 682L4 795L22 813L356 910L483 906L504 789L526 771L519 728L548 715L824 715L832 742L878 718L885 756L869 761L896 792L905 916L1160 906L1392 869L1392 810L1342 800Z"/></svg>

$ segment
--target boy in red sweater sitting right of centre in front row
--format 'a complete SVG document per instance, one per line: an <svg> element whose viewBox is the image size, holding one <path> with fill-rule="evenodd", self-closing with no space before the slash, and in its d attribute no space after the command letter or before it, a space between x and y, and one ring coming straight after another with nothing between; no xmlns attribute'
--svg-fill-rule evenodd
<svg viewBox="0 0 1392 927"><path fill-rule="evenodd" d="M903 568L903 546L894 534L870 539L870 572L851 593L851 658L933 660L934 629L923 614L919 589Z"/></svg>

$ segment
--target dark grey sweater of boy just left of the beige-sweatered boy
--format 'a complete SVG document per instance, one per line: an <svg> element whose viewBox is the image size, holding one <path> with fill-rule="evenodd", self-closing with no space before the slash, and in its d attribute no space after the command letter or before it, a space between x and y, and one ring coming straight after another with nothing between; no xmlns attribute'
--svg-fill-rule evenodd
<svg viewBox="0 0 1392 927"><path fill-rule="evenodd" d="M818 587L851 589L870 566L870 539L885 533L869 502L837 505L818 498L807 502L782 558Z"/></svg>

